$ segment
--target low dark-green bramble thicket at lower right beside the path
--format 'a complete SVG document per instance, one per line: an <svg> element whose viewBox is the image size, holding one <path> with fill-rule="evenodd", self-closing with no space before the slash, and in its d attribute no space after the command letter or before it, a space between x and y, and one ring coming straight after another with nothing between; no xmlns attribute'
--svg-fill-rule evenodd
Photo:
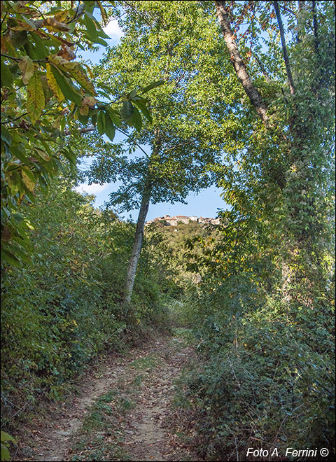
<svg viewBox="0 0 336 462"><path fill-rule="evenodd" d="M269 302L237 323L209 322L208 336L202 330L206 345L199 344L202 360L188 387L203 456L234 461L237 450L244 460L248 447L278 447L279 454L286 447L332 451L332 323L325 325L321 313L312 318L314 330L308 323L298 328L290 307Z"/></svg>

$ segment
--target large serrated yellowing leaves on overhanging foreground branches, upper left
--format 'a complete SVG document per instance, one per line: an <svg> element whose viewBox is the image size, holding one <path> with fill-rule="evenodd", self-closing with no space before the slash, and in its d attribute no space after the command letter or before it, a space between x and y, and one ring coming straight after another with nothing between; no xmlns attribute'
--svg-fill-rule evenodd
<svg viewBox="0 0 336 462"><path fill-rule="evenodd" d="M104 18L104 8L99 1L70 3L1 3L1 255L9 265L20 266L29 250L31 226L17 214L20 203L34 202L36 185L47 189L64 160L76 163L65 135L78 138L81 125L97 123L99 133L113 139L120 124L120 102L113 108L111 93L99 90L90 68L74 60L78 48L107 45L109 36L93 16L99 8ZM142 112L148 117L145 102ZM139 123L138 112L137 124L130 124Z"/></svg>

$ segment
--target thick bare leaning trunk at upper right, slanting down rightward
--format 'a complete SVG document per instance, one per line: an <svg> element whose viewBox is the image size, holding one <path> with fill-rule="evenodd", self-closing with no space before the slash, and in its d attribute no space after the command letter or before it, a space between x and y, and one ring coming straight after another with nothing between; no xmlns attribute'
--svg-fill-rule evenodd
<svg viewBox="0 0 336 462"><path fill-rule="evenodd" d="M217 12L219 24L221 25L224 40L225 40L226 45L228 46L228 50L230 52L230 57L231 57L231 62L235 68L237 76L248 98L250 99L251 103L255 107L255 111L257 111L258 116L261 118L264 125L267 126L268 125L267 106L262 101L262 97L260 96L258 90L253 85L250 76L248 76L248 72L246 71L246 66L244 64L244 61L243 59L241 59L241 56L239 55L239 50L237 47L237 43L235 41L235 35L233 34L231 26L230 26L228 10L225 6L225 1L223 0L215 1L215 5L216 5L216 12Z"/></svg>

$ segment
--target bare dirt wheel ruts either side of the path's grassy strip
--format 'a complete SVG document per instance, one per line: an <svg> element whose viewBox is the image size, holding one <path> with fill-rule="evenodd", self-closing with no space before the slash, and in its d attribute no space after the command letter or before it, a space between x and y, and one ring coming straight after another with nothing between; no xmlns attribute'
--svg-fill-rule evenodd
<svg viewBox="0 0 336 462"><path fill-rule="evenodd" d="M130 381L136 375L134 363L154 358L146 370L137 393L128 392L134 409L125 417L123 450L130 461L197 461L186 444L172 430L174 380L192 350L181 346L179 339L160 337L150 344L132 349L125 358L111 358L99 377L91 377L71 404L59 404L50 416L45 415L38 430L31 430L31 456L21 461L67 461L73 437L79 431L90 406L111 388L120 387L120 379ZM145 359L146 361L146 359ZM138 371L139 372L139 371ZM145 371L144 371L145 372ZM19 460L19 459L16 459ZM84 460L84 459L80 459ZM118 459L114 459L118 460ZM125 459L123 459L125 460Z"/></svg>

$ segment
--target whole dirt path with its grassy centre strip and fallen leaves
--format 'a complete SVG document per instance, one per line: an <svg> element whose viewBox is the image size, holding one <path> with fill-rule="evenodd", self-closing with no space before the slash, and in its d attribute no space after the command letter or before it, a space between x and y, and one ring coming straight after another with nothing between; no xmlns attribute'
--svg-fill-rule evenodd
<svg viewBox="0 0 336 462"><path fill-rule="evenodd" d="M191 356L193 350L176 335L111 358L73 402L29 429L29 442L20 444L25 456L15 460L199 460L190 444L192 430L181 431L183 411L174 405L174 381Z"/></svg>

